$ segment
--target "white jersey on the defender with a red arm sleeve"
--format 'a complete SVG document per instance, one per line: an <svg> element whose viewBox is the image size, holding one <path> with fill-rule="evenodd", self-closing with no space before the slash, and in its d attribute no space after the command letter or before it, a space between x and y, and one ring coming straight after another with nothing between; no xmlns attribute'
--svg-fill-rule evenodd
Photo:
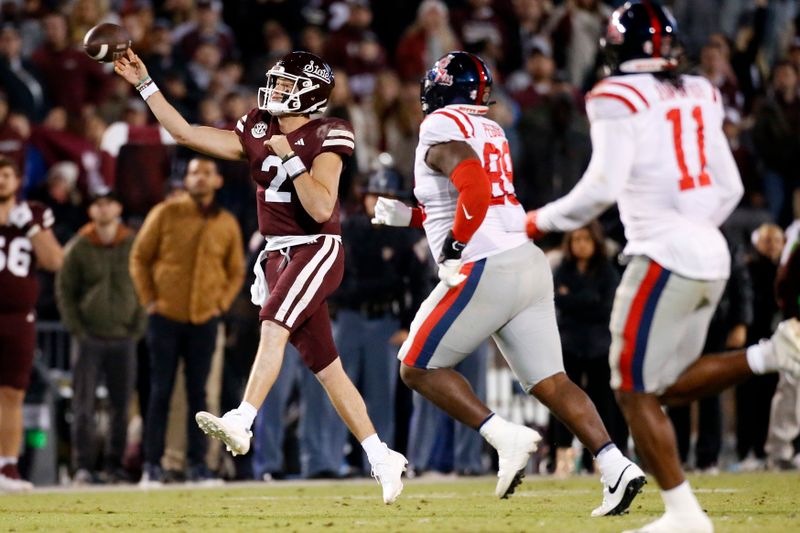
<svg viewBox="0 0 800 533"><path fill-rule="evenodd" d="M462 259L477 261L525 243L525 210L514 196L514 174L505 132L483 116L484 106L449 105L422 122L414 162L414 195L425 212L423 227L434 259L452 229L458 191L449 176L431 169L425 156L431 146L452 141L469 144L478 154L492 186L486 218L467 243ZM469 213L464 214L470 218Z"/></svg>

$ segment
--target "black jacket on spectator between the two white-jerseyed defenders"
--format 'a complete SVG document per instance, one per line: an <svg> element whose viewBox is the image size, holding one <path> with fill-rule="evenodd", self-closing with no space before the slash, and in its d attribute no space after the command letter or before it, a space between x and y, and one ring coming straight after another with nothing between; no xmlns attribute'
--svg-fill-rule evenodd
<svg viewBox="0 0 800 533"><path fill-rule="evenodd" d="M565 261L554 273L558 329L565 355L607 357L611 344L608 323L619 274L603 260L585 273L575 262ZM563 287L567 289L562 294Z"/></svg>

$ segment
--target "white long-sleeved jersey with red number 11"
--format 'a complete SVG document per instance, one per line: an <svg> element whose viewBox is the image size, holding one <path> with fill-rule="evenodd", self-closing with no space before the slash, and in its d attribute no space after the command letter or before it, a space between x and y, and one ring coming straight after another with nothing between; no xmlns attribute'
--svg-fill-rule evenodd
<svg viewBox="0 0 800 533"><path fill-rule="evenodd" d="M587 95L592 159L570 193L537 214L542 231L569 231L619 205L626 255L681 276L727 279L718 227L743 187L722 131L719 91L705 78L680 84L651 74L612 76Z"/></svg>

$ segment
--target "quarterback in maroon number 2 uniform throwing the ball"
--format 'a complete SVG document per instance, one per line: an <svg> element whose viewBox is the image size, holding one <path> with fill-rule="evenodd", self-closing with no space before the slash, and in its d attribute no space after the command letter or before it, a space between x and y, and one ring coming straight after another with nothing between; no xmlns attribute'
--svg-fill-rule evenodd
<svg viewBox="0 0 800 533"><path fill-rule="evenodd" d="M234 455L247 453L256 411L291 342L361 442L384 502L392 503L403 488L406 459L378 438L364 400L342 368L326 304L342 280L337 191L355 147L348 122L310 116L325 111L334 85L330 67L307 52L287 54L267 71L258 107L233 131L186 122L132 50L114 68L136 86L178 143L222 159L247 160L258 185L258 223L266 244L251 293L261 306L261 342L241 405L221 418L197 413L197 423Z"/></svg>

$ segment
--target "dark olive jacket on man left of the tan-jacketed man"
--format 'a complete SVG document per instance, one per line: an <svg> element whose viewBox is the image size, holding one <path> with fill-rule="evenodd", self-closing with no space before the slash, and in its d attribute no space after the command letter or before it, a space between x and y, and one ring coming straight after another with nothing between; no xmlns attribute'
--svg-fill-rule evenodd
<svg viewBox="0 0 800 533"><path fill-rule="evenodd" d="M132 245L133 232L121 224L110 244L100 240L93 223L69 241L56 297L70 333L134 339L144 334L147 315L128 272Z"/></svg>

